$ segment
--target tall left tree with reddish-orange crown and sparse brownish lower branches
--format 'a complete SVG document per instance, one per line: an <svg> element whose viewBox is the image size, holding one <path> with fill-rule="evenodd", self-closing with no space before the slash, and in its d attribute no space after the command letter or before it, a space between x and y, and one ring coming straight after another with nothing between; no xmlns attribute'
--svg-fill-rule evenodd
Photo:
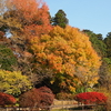
<svg viewBox="0 0 111 111"><path fill-rule="evenodd" d="M13 69L28 75L33 83L40 82L48 77L47 73L52 73L52 71L42 70L41 67L33 70L34 56L30 53L28 46L33 36L40 38L52 29L48 6L37 0L6 0L6 8L7 10L0 16L0 24L3 31L9 30L11 33L11 37L6 40L10 41L7 42L8 48L18 60L18 65Z"/></svg>

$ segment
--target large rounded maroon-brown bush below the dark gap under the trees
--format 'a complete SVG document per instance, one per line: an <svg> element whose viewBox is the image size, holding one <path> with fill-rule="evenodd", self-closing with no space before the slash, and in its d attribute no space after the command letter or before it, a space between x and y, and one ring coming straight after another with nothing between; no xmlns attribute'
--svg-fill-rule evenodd
<svg viewBox="0 0 111 111"><path fill-rule="evenodd" d="M48 107L53 102L54 95L47 87L31 89L19 98L20 107Z"/></svg>

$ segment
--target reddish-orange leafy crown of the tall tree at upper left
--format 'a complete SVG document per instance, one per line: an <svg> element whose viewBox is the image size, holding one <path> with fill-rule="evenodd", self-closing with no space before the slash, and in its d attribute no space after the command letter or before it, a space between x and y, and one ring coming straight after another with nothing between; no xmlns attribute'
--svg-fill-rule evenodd
<svg viewBox="0 0 111 111"><path fill-rule="evenodd" d="M11 17L17 19L22 26L26 37L41 36L49 33L52 29L49 20L49 8L41 0L9 0L9 11L13 12Z"/></svg>

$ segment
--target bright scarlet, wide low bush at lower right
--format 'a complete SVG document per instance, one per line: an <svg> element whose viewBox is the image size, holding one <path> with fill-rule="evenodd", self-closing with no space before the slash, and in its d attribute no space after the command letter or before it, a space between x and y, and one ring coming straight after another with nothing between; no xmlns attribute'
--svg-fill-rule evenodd
<svg viewBox="0 0 111 111"><path fill-rule="evenodd" d="M101 103L107 103L107 97L101 93L101 92L83 92L79 93L74 97L74 99L78 102L84 103L84 104L90 104L90 103L95 103L95 104L101 104Z"/></svg>

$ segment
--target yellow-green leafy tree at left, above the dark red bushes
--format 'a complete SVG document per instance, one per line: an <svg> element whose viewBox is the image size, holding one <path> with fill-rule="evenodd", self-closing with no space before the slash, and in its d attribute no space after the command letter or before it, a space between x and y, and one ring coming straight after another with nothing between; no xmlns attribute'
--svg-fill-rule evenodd
<svg viewBox="0 0 111 111"><path fill-rule="evenodd" d="M28 77L22 75L20 71L0 70L0 91L18 97L26 90L31 89L32 84Z"/></svg>

